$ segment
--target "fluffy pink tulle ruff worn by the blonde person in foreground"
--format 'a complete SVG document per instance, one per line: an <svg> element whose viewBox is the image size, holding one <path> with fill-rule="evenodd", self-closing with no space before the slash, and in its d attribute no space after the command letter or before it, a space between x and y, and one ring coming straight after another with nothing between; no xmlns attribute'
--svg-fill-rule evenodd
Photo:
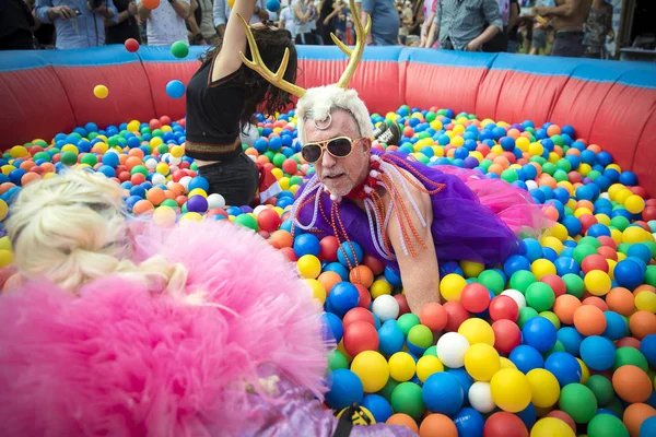
<svg viewBox="0 0 656 437"><path fill-rule="evenodd" d="M3 436L257 429L244 381L257 383L260 365L321 399L320 305L282 253L222 222L147 225L136 249L137 260L181 262L187 291L207 292L230 310L181 305L118 276L83 286L80 297L47 281L11 290L0 297Z"/></svg>

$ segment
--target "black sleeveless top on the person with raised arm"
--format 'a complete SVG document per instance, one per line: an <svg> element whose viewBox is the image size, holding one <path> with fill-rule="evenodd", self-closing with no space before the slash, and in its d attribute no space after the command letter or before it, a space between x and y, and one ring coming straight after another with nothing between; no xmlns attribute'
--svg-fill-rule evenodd
<svg viewBox="0 0 656 437"><path fill-rule="evenodd" d="M213 62L202 66L187 85L187 156L225 161L242 153L239 118L245 90L236 82L239 70L215 82Z"/></svg>

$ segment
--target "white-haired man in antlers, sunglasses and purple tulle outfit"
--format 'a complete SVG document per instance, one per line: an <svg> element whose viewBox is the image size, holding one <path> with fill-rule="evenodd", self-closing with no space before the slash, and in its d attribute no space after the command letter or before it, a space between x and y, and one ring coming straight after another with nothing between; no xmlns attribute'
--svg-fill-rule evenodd
<svg viewBox="0 0 656 437"><path fill-rule="evenodd" d="M539 232L547 222L526 191L505 181L374 147L370 114L348 88L371 20L366 27L354 25L353 50L335 42L350 57L337 84L298 92L280 72L263 73L300 97L302 155L316 170L298 190L292 217L296 229L347 243L340 250L351 269L358 265L355 243L400 273L410 309L419 312L440 299L438 261L496 264L518 248L516 233Z"/></svg>

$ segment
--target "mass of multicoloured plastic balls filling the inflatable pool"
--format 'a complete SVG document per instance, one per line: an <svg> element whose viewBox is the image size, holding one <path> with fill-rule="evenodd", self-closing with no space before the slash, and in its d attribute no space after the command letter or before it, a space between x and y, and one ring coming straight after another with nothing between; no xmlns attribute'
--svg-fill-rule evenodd
<svg viewBox="0 0 656 437"><path fill-rule="evenodd" d="M184 94L181 82L171 88L172 98ZM94 94L105 98L107 90ZM635 174L571 126L407 106L372 120L403 125L401 143L387 150L525 188L558 224L539 239L524 238L503 265L441 265L444 305L413 316L400 279L367 253L344 255L330 237L290 234L293 196L312 173L298 156L293 113L260 117L261 138L245 146L283 189L266 205L225 205L220 194L208 196L207 180L184 154L185 120L161 117L102 129L90 122L9 149L0 218L22 186L78 166L116 180L131 213L153 214L162 225L227 220L258 232L296 263L325 304L324 321L339 343L326 399L336 411L361 402L377 422L420 435L437 428L633 437L653 429L656 201ZM2 241L4 267L12 256ZM347 258L361 267L349 272Z"/></svg>

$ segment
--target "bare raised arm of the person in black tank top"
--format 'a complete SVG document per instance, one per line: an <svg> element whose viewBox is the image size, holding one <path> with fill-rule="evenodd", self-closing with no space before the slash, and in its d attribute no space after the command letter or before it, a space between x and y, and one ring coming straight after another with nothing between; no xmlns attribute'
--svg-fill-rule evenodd
<svg viewBox="0 0 656 437"><path fill-rule="evenodd" d="M243 61L239 51L246 50L246 34L236 14L242 15L246 20L246 23L248 23L255 10L256 1L235 0L235 4L227 19L227 25L225 26L221 52L214 58L214 64L212 66L212 82L234 73L242 67Z"/></svg>

